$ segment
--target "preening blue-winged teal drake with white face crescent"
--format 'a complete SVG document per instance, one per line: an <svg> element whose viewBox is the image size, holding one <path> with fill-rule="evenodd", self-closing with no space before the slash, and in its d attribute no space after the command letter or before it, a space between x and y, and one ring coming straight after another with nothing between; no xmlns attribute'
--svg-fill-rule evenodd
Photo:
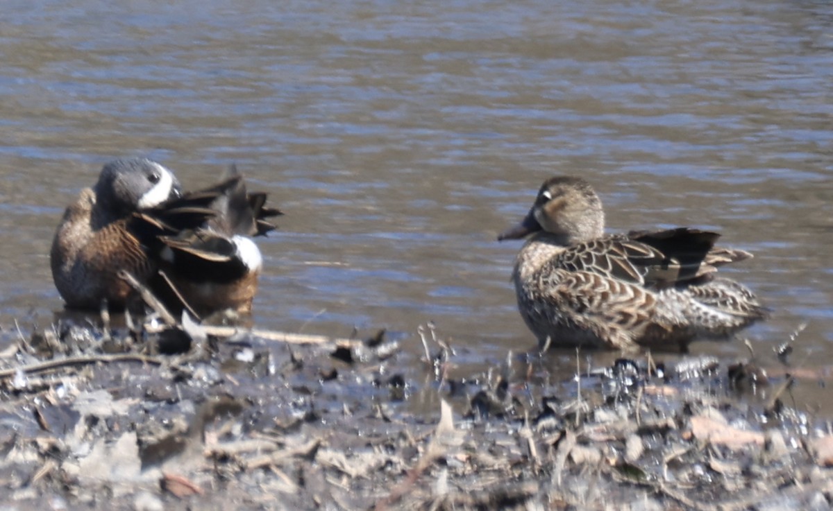
<svg viewBox="0 0 833 511"><path fill-rule="evenodd" d="M132 274L175 310L248 313L262 258L248 236L273 226L280 211L248 194L237 171L216 186L182 193L164 166L145 158L112 161L67 207L52 241L52 277L68 307L121 309ZM176 289L176 292L172 291ZM175 303L178 302L178 303Z"/></svg>

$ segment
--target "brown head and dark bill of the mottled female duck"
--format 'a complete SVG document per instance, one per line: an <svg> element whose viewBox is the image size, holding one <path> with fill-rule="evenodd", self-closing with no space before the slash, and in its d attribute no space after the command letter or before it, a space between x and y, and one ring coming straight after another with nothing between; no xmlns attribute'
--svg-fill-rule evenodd
<svg viewBox="0 0 833 511"><path fill-rule="evenodd" d="M590 183L581 177L555 176L544 181L535 202L521 223L497 236L513 240L545 231L560 245L572 245L602 236L605 212Z"/></svg>

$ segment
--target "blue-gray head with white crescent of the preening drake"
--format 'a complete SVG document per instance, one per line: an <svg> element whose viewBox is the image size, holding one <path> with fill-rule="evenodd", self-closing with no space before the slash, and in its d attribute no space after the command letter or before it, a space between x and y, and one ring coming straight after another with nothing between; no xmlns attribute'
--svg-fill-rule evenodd
<svg viewBox="0 0 833 511"><path fill-rule="evenodd" d="M125 215L159 206L182 195L172 171L147 158L123 158L107 163L94 188L97 204Z"/></svg>

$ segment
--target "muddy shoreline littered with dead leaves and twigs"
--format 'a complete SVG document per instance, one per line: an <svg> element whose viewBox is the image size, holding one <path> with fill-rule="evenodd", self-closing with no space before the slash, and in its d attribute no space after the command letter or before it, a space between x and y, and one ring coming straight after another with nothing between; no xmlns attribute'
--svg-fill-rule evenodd
<svg viewBox="0 0 833 511"><path fill-rule="evenodd" d="M833 436L749 361L64 320L5 330L8 509L830 509ZM422 360L402 343L424 342ZM403 369L404 368L404 369ZM415 369L416 368L416 369ZM451 373L455 375L453 378ZM463 371L465 372L465 371ZM409 403L427 399L427 413Z"/></svg>

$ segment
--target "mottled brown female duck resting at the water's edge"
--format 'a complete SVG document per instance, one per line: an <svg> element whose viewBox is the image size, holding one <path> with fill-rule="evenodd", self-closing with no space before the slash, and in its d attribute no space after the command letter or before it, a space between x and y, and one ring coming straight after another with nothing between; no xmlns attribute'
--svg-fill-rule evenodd
<svg viewBox="0 0 833 511"><path fill-rule="evenodd" d="M511 280L542 351L686 352L693 340L729 339L768 313L745 285L716 275L752 257L716 246L719 237L690 227L605 234L591 184L553 176L497 239L526 239Z"/></svg>

